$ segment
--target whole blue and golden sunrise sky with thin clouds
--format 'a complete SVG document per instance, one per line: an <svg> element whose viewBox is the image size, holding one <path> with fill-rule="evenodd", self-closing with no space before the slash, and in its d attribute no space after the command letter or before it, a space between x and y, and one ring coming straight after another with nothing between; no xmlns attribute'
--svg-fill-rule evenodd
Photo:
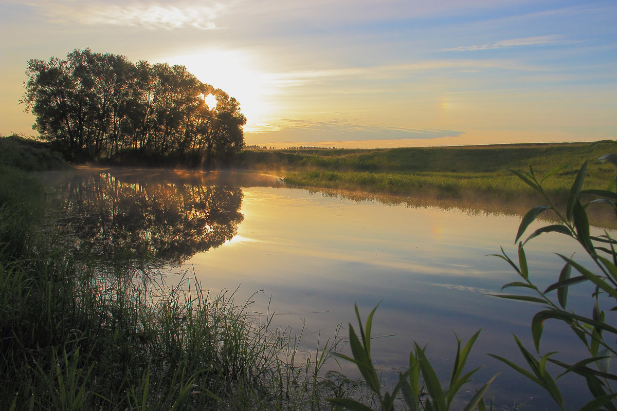
<svg viewBox="0 0 617 411"><path fill-rule="evenodd" d="M0 0L0 134L34 135L28 59L180 64L236 97L246 144L617 139L617 1Z"/></svg>

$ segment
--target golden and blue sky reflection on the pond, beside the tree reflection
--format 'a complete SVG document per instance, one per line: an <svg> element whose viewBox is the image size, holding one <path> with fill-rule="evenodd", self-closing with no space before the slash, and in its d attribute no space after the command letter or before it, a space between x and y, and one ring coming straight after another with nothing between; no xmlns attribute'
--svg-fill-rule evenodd
<svg viewBox="0 0 617 411"><path fill-rule="evenodd" d="M484 355L517 359L513 333L533 346L529 324L536 307L487 296L518 280L502 259L487 254L503 246L515 258L520 216L384 205L274 187L244 189L241 212L238 240L196 254L187 264L212 291L240 286L239 300L260 291L252 297L252 309L275 312L279 327L305 327L306 352L318 339L323 344L331 337L337 324L346 335L347 323L356 322L354 303L366 318L381 301L374 333L388 336L375 340L374 359L385 369L404 365L417 341L429 343L436 367L449 372L454 333L466 340L482 328L471 357L472 364L484 365L479 382L502 372L494 383L500 404L552 405L542 391ZM563 266L554 251L576 251L585 261L563 235L540 236L527 249L531 276L540 287L554 282ZM583 306L591 292L573 289L569 303L587 312ZM559 324L546 328L544 347L579 357L582 346L568 330ZM564 383L574 393L573 404L584 401L574 380Z"/></svg>

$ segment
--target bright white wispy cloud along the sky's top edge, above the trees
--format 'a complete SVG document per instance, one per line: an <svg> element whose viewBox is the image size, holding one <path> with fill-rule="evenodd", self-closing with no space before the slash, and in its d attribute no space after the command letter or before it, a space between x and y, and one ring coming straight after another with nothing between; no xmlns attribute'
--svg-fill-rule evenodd
<svg viewBox="0 0 617 411"><path fill-rule="evenodd" d="M223 6L215 2L112 2L70 1L26 2L38 9L51 22L66 25L114 25L172 30L192 27L200 30L216 28L215 18Z"/></svg>

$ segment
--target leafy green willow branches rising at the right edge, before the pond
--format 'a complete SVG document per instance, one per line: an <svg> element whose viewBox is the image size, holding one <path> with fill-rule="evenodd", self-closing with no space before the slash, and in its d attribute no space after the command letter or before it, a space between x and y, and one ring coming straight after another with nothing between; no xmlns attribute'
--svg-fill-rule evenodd
<svg viewBox="0 0 617 411"><path fill-rule="evenodd" d="M600 160L613 163L614 158L616 158L615 155L611 154L600 157ZM550 351L536 357L524 348L521 341L515 336L516 344L529 370L512 360L491 355L544 388L561 409L565 409L566 404L564 404L557 380L562 375L576 373L582 377L589 393L594 397L592 401L582 407L582 410L617 410L617 393L615 392L617 375L610 370L610 361L617 354L617 348L613 344L617 337L617 328L610 324L605 311L602 309L602 307L608 306L611 311L614 311L617 303L617 251L615 250L617 240L612 238L608 232L600 236L591 235L587 218L587 208L592 203L605 204L610 206L612 210L616 209L615 185L612 185L612 190L584 190L584 181L588 172L588 162L585 161L576 174L574 182L564 199L565 201L561 201L565 205L565 210L563 210L551 201L543 185L547 177L556 172L549 171L542 179L538 179L532 168L526 174L513 171L521 181L544 198L546 205L532 208L521 221L515 237L519 250L518 264L505 254L503 248L501 254L494 255L507 261L522 279L522 281L504 285L502 290L505 288L524 288L531 290L536 296L518 294L495 296L542 305L542 310L534 315L531 322L534 349L538 354L540 354L542 334L547 320L558 320L568 325L573 332L573 338L584 344L587 353L574 364L571 361L568 363L555 359L554 356L558 354L557 351ZM590 198L594 199L590 200ZM534 230L526 240L521 241L529 225L536 220L537 216L545 212L552 212L558 219L558 224L540 227ZM542 291L531 279L523 246L532 238L548 232L573 238L581 246L584 253L589 256L594 268L589 269L574 261L573 256L558 254L565 265L558 275L557 282L552 283ZM572 277L573 272L577 274L574 277ZM568 307L568 290L581 283L592 283L595 290L590 299L589 312L591 316L574 312ZM547 370L548 363L563 368L563 373L557 378L553 378Z"/></svg>

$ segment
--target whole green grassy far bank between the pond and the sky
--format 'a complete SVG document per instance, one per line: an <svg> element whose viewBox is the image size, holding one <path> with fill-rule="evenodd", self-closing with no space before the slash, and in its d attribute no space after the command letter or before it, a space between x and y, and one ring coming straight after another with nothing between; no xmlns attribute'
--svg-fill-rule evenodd
<svg viewBox="0 0 617 411"><path fill-rule="evenodd" d="M241 165L278 170L286 182L328 189L362 190L389 194L430 193L457 197L469 190L513 198L530 193L507 171L536 174L565 166L545 182L554 197L563 197L574 174L587 158L595 160L613 150L613 143L526 144L477 147L421 147L404 149L245 150ZM594 163L587 187L602 187L613 177L611 165Z"/></svg>

